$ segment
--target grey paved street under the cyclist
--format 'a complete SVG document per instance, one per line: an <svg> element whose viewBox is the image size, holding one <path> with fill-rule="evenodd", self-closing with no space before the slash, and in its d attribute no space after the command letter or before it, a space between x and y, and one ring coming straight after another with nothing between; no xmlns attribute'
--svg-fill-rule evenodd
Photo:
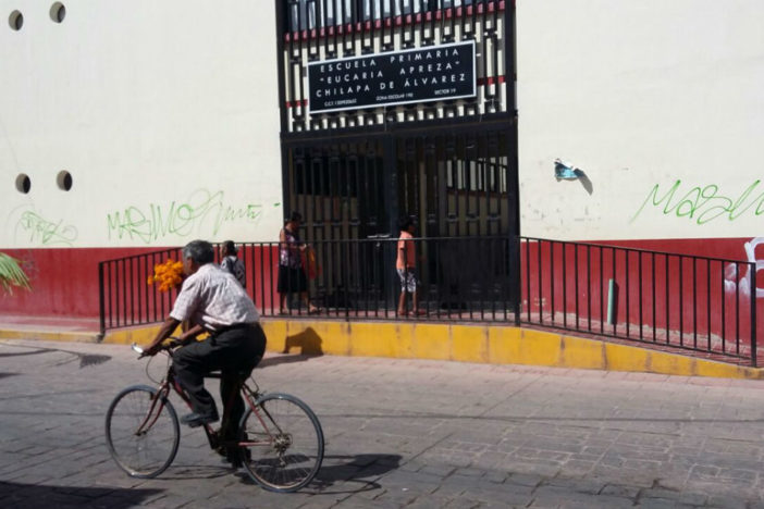
<svg viewBox="0 0 764 509"><path fill-rule="evenodd" d="M269 356L261 386L326 435L318 480L278 495L187 427L160 477L123 474L103 415L145 367L125 346L0 343L0 507L764 507L762 382Z"/></svg>

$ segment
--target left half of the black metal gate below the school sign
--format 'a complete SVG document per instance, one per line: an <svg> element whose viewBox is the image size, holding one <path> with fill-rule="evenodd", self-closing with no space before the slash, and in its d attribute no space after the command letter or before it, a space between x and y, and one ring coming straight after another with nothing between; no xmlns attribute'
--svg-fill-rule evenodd
<svg viewBox="0 0 764 509"><path fill-rule="evenodd" d="M349 300L385 299L382 246L349 241L390 234L383 140L318 140L285 152L285 204L304 216L304 236L323 272L313 283L317 300L347 308ZM348 271L348 264L361 269Z"/></svg>

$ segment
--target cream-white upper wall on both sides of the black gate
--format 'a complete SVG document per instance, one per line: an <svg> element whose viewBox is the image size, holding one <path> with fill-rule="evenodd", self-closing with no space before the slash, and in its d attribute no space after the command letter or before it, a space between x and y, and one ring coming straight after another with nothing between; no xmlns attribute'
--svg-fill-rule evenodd
<svg viewBox="0 0 764 509"><path fill-rule="evenodd" d="M273 3L71 0L61 24L51 4L0 0L0 246L275 238ZM761 0L518 0L522 233L761 235Z"/></svg>

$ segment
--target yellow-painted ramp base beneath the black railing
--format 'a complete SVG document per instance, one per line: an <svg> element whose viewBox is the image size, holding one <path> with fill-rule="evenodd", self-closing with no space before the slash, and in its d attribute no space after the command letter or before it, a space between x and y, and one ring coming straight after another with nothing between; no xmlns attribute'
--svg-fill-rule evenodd
<svg viewBox="0 0 764 509"><path fill-rule="evenodd" d="M514 326L281 319L263 319L262 326L268 350L285 353L764 378L760 368ZM155 325L111 331L103 343L146 344L158 328Z"/></svg>

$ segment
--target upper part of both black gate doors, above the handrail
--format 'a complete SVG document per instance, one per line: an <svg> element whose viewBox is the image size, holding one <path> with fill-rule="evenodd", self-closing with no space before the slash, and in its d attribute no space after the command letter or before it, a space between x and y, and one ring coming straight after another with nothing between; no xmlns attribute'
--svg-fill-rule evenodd
<svg viewBox="0 0 764 509"><path fill-rule="evenodd" d="M311 240L395 235L412 215L429 237L517 234L510 134L406 131L285 146L285 203Z"/></svg>

